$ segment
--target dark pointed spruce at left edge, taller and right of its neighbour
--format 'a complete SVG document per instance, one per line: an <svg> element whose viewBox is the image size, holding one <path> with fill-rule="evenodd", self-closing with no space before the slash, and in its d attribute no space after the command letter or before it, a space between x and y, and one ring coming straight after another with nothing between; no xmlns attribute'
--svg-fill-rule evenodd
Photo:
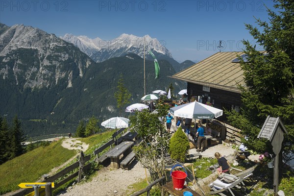
<svg viewBox="0 0 294 196"><path fill-rule="evenodd" d="M11 147L12 153L11 158L22 155L25 152L25 146L23 143L25 142L25 134L22 129L22 125L17 116L13 119L13 128L12 128L12 136L11 136Z"/></svg>

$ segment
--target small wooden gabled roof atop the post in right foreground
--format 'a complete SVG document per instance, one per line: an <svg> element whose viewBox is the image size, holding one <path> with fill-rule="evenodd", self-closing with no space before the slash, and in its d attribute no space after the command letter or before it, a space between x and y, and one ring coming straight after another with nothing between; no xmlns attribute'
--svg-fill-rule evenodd
<svg viewBox="0 0 294 196"><path fill-rule="evenodd" d="M282 130L288 134L283 122L281 121L281 119L278 118L273 118L268 116L268 118L266 119L265 123L263 124L257 138L265 138L268 139L270 141L272 141L274 133L276 131L276 129L278 128L278 126L281 126Z"/></svg>

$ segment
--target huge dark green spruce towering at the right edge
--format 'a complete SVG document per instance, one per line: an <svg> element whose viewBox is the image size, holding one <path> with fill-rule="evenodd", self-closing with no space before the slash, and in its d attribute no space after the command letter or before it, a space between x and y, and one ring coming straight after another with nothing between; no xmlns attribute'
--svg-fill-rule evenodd
<svg viewBox="0 0 294 196"><path fill-rule="evenodd" d="M294 152L294 1L274 0L268 9L269 22L256 19L259 27L246 29L264 48L257 51L249 41L245 45L246 62L241 60L246 87L240 87L242 110L228 112L228 120L247 136L245 146L257 152L272 150L266 140L257 139L268 115L280 117L288 131L282 145L283 154Z"/></svg>

